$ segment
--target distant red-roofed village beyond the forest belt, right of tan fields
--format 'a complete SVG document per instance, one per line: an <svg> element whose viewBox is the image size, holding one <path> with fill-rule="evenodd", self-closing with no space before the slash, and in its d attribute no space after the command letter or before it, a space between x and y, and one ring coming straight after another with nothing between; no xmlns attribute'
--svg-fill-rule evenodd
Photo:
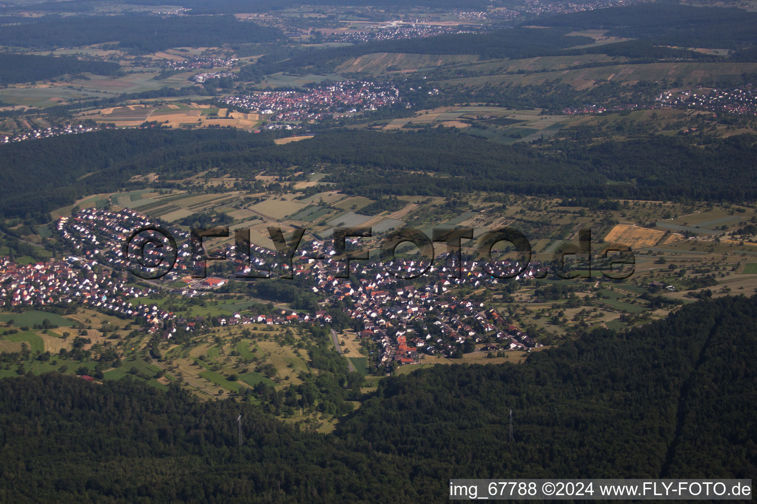
<svg viewBox="0 0 757 504"><path fill-rule="evenodd" d="M364 81L336 82L307 92L261 91L239 97L226 96L220 101L235 109L270 114L273 121L319 121L401 103L400 90L396 87ZM405 105L410 107L410 104Z"/></svg>

